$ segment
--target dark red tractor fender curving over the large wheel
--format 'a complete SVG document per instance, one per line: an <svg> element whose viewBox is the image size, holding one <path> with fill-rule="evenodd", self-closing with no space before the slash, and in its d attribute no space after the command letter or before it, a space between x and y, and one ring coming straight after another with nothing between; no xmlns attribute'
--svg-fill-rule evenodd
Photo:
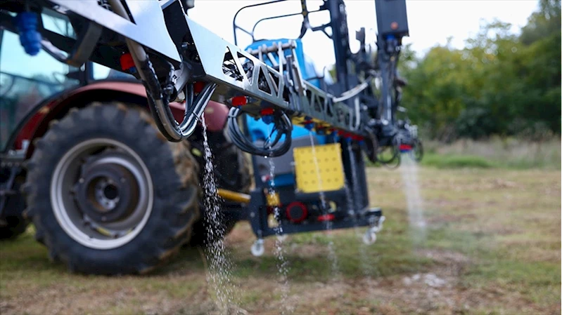
<svg viewBox="0 0 562 315"><path fill-rule="evenodd" d="M126 102L148 110L146 90L138 81L95 81L86 86L65 90L40 102L20 122L6 148L22 149L23 140L29 140L30 144L25 152L25 159L29 159L34 149L33 140L46 133L50 121L62 118L73 107L84 107L94 101ZM170 108L177 121L184 119L183 103L170 102ZM208 130L223 130L228 113L226 105L210 101L204 112Z"/></svg>

